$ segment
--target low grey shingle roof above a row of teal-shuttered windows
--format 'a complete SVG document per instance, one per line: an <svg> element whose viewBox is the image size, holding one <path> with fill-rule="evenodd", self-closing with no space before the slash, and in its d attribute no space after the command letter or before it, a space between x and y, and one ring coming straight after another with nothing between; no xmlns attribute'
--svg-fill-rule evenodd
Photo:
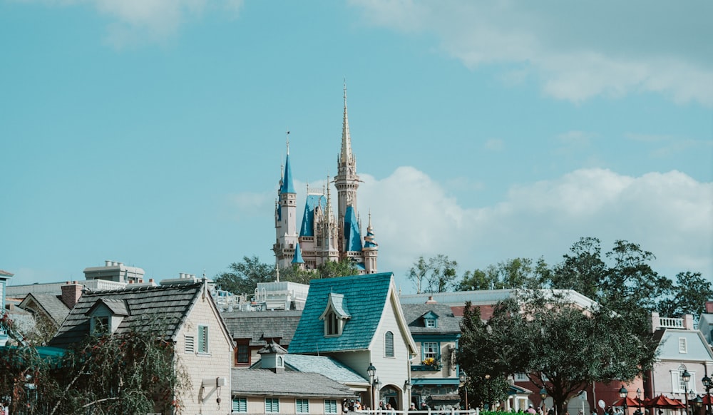
<svg viewBox="0 0 713 415"><path fill-rule="evenodd" d="M354 391L318 373L269 369L232 369L232 394L246 396L300 396L349 398Z"/></svg>

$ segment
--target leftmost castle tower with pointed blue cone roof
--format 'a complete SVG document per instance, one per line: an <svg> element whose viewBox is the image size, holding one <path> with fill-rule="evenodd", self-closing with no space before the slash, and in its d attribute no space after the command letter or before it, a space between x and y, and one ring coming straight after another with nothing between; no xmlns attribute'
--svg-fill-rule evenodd
<svg viewBox="0 0 713 415"><path fill-rule="evenodd" d="M289 166L289 131L287 131L287 156L284 160L284 175L279 180L277 203L275 204L275 260L279 267L292 264L297 246L297 193L292 183L292 169Z"/></svg>

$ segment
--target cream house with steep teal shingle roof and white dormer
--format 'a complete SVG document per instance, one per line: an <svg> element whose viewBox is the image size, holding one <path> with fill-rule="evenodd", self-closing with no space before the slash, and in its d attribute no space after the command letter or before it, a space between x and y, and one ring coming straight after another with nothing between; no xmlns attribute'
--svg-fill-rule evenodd
<svg viewBox="0 0 713 415"><path fill-rule="evenodd" d="M331 357L368 379L365 406L408 409L419 352L391 272L312 280L289 353Z"/></svg>

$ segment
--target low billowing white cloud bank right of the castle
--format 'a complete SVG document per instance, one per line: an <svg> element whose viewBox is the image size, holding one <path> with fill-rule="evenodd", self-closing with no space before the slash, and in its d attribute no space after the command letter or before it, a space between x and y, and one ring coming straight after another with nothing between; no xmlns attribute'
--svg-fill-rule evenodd
<svg viewBox="0 0 713 415"><path fill-rule="evenodd" d="M383 180L361 178L359 209L371 209L379 269L401 278L419 255L439 253L458 260L461 272L512 257L555 263L585 236L599 237L604 251L617 239L639 243L670 277L685 270L713 275L713 183L677 171L629 177L580 169L514 186L485 207L460 205L411 167Z"/></svg>

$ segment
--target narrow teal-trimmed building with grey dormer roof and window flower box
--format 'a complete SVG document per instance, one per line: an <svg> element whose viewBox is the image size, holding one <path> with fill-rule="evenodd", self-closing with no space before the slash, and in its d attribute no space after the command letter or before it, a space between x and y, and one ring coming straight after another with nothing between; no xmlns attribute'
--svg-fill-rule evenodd
<svg viewBox="0 0 713 415"><path fill-rule="evenodd" d="M447 304L401 304L411 336L420 353L411 362L411 402L434 409L458 408L460 368L456 363L461 317Z"/></svg>

